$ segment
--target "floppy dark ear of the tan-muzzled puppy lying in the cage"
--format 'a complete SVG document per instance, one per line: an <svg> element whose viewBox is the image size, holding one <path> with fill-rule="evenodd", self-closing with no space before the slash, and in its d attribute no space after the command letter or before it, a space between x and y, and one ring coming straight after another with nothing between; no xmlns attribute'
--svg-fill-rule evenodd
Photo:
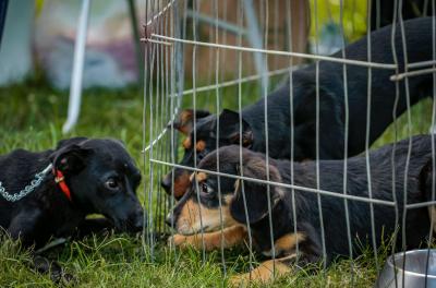
<svg viewBox="0 0 436 288"><path fill-rule="evenodd" d="M258 157L247 160L243 168L237 167L237 171L242 171L244 177L267 180L265 159ZM272 165L269 165L269 181L281 182L280 173ZM282 197L282 191L278 187L269 185L268 190L267 184L238 179L234 196L230 202L230 214L243 224L246 224L247 219L250 224L262 220L268 216L268 192L272 211ZM245 215L244 199L249 215Z"/></svg>

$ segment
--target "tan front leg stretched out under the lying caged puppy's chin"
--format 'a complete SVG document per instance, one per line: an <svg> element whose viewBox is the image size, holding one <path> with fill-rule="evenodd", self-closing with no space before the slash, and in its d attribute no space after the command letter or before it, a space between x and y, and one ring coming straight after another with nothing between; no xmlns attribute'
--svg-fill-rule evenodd
<svg viewBox="0 0 436 288"><path fill-rule="evenodd" d="M223 241L222 237L223 236ZM174 235L168 239L170 245L175 245L181 249L189 247L194 249L203 249L203 240L206 251L219 249L223 242L223 248L234 247L245 240L247 233L246 228L241 225L225 228L222 231L210 233L201 233L192 236Z"/></svg>

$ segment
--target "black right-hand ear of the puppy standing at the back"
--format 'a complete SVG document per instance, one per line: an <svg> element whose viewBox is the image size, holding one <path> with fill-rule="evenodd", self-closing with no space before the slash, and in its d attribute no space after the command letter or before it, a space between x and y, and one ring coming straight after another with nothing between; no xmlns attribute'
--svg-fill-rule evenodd
<svg viewBox="0 0 436 288"><path fill-rule="evenodd" d="M230 141L231 144L240 144L250 147L253 144L253 131L250 124L242 118L242 137L240 130L240 115L229 109L223 109L219 115L220 136Z"/></svg>

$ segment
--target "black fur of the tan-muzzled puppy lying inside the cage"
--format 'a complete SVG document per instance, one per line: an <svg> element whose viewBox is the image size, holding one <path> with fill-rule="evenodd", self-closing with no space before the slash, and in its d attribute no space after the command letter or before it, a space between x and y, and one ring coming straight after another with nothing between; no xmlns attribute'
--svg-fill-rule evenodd
<svg viewBox="0 0 436 288"><path fill-rule="evenodd" d="M392 145L384 146L371 152L371 183L374 199L392 201ZM432 136L421 135L412 139L412 149L405 175L407 188L404 187L404 172L408 155L409 141L404 140L397 143L395 151L395 193L398 201L399 223L396 226L396 214L392 206L374 204L375 239L377 247L382 241L388 241L397 228L397 248L402 249L401 235L405 229L405 249L413 249L425 243L426 237L431 231L431 224L427 208L409 209L407 213L405 227L402 227L403 215L403 193L408 191L408 204L421 203L432 200ZM243 149L243 168L239 168L240 147L232 145L221 147L207 155L199 164L198 168L216 171L217 153L219 153L219 171L230 175L242 175L255 179L266 179L265 155L250 149ZM291 179L291 165L293 165L293 181ZM290 163L288 160L269 159L269 179L283 183L293 183L304 188L316 188L316 163ZM366 159L364 156L356 156L348 159L347 169L347 194L368 199L368 181L366 175ZM267 187L262 183L242 181L245 192L249 217L245 215L242 196L242 183L235 191L235 179L220 177L220 193L222 203L229 195L233 195L230 203L231 216L243 225L249 218L253 240L261 252L271 250L270 227L267 205ZM205 190L204 187L209 187ZM172 217L173 223L178 223L181 207L187 200L199 202L204 207L216 207L218 203L218 181L217 176L208 175L207 180L201 183L203 190L197 195L195 185L192 187L182 200L174 207ZM322 190L343 193L343 160L322 160L319 161L319 188ZM210 191L205 193L205 191ZM294 220L296 220L296 231L306 236L300 243L302 253L301 260L304 262L316 262L323 259L322 233L319 221L319 209L317 194L312 192L294 190L295 212L292 211L292 191L287 188L269 187L271 201L271 218L274 239L277 240L287 233L293 233ZM346 224L346 209L343 199L336 196L320 196L322 212L325 228L325 243L327 263L336 256L348 255L348 233ZM350 229L353 243L353 253L362 253L361 248L372 243L372 225L370 204L362 201L348 201L350 215ZM296 215L296 219L293 215ZM175 227L177 228L177 227ZM289 252L289 251L288 251ZM277 255L280 256L280 255Z"/></svg>

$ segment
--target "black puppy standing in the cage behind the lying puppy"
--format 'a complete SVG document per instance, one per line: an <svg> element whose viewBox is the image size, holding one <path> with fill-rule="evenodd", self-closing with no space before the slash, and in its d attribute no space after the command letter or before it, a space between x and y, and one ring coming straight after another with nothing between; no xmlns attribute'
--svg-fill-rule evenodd
<svg viewBox="0 0 436 288"><path fill-rule="evenodd" d="M432 17L415 19L404 22L408 61L420 62L433 59ZM395 63L391 47L391 26L371 34L372 61ZM404 57L400 26L396 26L396 56L399 72L404 71ZM347 59L366 61L367 39L363 39L346 48ZM342 51L332 55L341 58ZM371 70L371 118L370 144L373 143L392 122L396 101L396 83L390 81L393 70ZM361 153L365 147L368 68L347 65L347 85L349 98L348 156ZM316 64L300 69L293 73L293 112L290 112L289 83L268 95L268 151L272 158L290 159L293 151L294 160L316 158ZM319 62L319 158L341 159L344 156L344 121L346 101L343 85L343 64ZM429 96L432 75L409 79L410 103L417 103ZM407 109L404 81L399 83L399 98L395 113L401 115ZM181 165L194 166L196 163L219 146L241 144L252 151L266 149L265 99L245 107L241 115L223 110L221 115L209 115L207 111L185 110L180 120L173 123L175 129L187 135L183 142L185 153ZM293 141L291 139L291 115L293 116ZM240 118L242 134L240 134ZM195 119L195 131L194 128ZM219 123L219 131L217 131ZM194 143L194 134L195 141ZM162 182L168 194L181 197L189 185L189 172L173 169Z"/></svg>

